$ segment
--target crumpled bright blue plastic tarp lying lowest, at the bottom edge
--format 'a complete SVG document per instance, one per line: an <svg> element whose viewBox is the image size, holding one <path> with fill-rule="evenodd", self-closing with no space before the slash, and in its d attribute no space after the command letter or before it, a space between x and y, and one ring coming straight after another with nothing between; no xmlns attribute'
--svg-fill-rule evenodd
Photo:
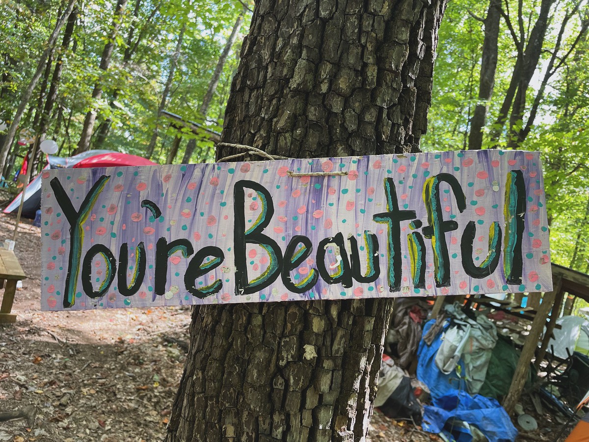
<svg viewBox="0 0 589 442"><path fill-rule="evenodd" d="M464 421L474 426L488 438L489 442L511 442L518 434L509 415L495 399L481 395L471 396L465 391L449 390L442 397L426 405L423 412L423 430L441 433L449 420ZM446 430L449 429L448 424ZM456 425L459 440L471 441L470 431L465 426ZM456 435L455 435L456 436Z"/></svg>

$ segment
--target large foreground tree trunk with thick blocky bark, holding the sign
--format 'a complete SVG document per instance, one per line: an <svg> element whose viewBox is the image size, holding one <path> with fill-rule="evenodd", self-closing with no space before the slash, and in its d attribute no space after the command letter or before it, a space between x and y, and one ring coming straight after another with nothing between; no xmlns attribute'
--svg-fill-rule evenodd
<svg viewBox="0 0 589 442"><path fill-rule="evenodd" d="M418 151L445 5L256 2L221 140L303 158ZM363 440L392 301L197 306L166 441Z"/></svg>

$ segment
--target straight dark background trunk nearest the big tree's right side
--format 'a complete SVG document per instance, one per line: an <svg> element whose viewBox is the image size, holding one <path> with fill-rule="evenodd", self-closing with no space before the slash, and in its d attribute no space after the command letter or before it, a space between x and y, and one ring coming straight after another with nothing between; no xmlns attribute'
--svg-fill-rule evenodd
<svg viewBox="0 0 589 442"><path fill-rule="evenodd" d="M485 18L485 38L482 43L481 78L479 80L479 95L477 107L472 114L471 130L468 136L468 149L482 148L482 128L485 127L489 104L495 86L495 70L497 70L497 41L499 38L498 8L499 0L491 0L487 17Z"/></svg>

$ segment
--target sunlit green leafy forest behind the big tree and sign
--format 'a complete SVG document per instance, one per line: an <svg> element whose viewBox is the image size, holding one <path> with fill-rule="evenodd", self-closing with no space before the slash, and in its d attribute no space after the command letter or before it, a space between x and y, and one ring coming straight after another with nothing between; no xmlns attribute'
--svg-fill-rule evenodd
<svg viewBox="0 0 589 442"><path fill-rule="evenodd" d="M44 139L57 141L58 156L110 149L161 164L214 161L252 10L238 0L0 0L6 182L15 186ZM588 27L585 1L452 0L421 145L540 151L552 260L585 273ZM41 153L32 164L33 175L44 167Z"/></svg>

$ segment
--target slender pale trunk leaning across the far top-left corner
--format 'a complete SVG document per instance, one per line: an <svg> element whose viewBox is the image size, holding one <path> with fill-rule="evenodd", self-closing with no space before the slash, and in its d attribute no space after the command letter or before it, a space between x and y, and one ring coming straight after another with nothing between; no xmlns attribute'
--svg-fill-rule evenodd
<svg viewBox="0 0 589 442"><path fill-rule="evenodd" d="M43 54L41 55L41 58L39 59L39 63L37 64L37 70L35 71L35 74L31 78L31 81L29 81L27 88L23 91L23 93L21 95L20 102L19 102L18 108L16 109L15 116L12 119L12 123L11 123L10 127L8 128L8 133L6 133L6 138L4 140L4 144L2 144L2 148L0 149L0 170L4 170L4 166L6 163L6 156L8 156L8 152L10 150L10 147L12 146L12 141L14 141L14 137L16 135L16 130L18 128L18 125L21 123L22 114L24 114L25 108L27 107L27 104L28 104L29 100L31 99L31 95L33 94L35 86L37 85L39 78L41 78L41 74L43 73L43 68L45 67L45 62L47 61L47 58L49 57L49 54L51 53L51 51L53 51L53 48L55 46L55 42L57 42L57 37L59 36L59 31L61 31L61 28L64 26L65 21L67 20L68 17L70 17L72 9L74 9L75 2L76 2L76 0L70 0L67 8L65 8L65 12L61 15L61 17L59 17L57 23L55 24L55 28L53 29L53 32L51 33L51 37L49 37L49 40L47 41L47 47L45 48L45 51L43 52Z"/></svg>

